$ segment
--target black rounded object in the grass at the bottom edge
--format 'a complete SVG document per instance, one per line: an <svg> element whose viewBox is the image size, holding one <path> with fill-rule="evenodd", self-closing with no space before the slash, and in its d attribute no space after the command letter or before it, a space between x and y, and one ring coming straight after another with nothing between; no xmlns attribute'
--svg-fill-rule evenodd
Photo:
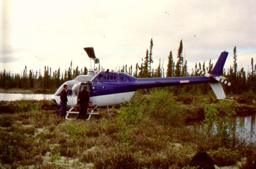
<svg viewBox="0 0 256 169"><path fill-rule="evenodd" d="M199 166L201 169L215 169L212 158L203 150L194 155L189 165Z"/></svg>

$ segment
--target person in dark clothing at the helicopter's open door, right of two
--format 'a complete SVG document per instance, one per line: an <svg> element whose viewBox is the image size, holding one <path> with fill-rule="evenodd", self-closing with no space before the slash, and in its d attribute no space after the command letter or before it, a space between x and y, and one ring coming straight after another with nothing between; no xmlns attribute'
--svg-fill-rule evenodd
<svg viewBox="0 0 256 169"><path fill-rule="evenodd" d="M82 119L82 118L85 118L87 115L87 108L88 108L88 102L89 102L89 94L86 86L84 86L84 90L82 90L82 92L79 93L78 98L79 98L79 104L80 104L80 111L76 119Z"/></svg>

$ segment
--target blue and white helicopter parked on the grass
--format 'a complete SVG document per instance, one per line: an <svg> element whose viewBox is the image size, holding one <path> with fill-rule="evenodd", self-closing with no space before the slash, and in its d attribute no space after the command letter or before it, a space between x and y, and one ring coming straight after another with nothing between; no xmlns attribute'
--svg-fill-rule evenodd
<svg viewBox="0 0 256 169"><path fill-rule="evenodd" d="M196 69L196 71L203 76L136 78L125 72L112 72L108 70L96 71L95 64L99 63L99 59L96 58L93 47L87 47L84 48L84 50L90 59L94 61L94 70L88 71L87 75L79 75L74 80L66 81L51 97L53 103L60 104L60 92L63 89L63 85L67 84L67 105L72 108L67 111L66 119L70 119L70 113L78 113L72 110L79 107L77 97L84 86L87 86L87 91L89 91L89 106L93 108L91 112L88 112L90 115L87 120L89 120L92 114L98 114L94 111L97 107L107 107L109 113L108 106L114 106L129 101L138 89L210 83L216 97L218 99L225 99L226 94L221 86L221 82L228 86L231 85L225 77L221 76L223 66L228 56L228 52L226 51L220 54L210 74Z"/></svg>

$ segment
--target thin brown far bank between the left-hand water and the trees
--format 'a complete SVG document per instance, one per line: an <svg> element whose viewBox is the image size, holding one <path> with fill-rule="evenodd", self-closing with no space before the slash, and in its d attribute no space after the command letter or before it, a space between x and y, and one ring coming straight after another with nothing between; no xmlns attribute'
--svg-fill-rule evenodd
<svg viewBox="0 0 256 169"><path fill-rule="evenodd" d="M34 89L0 89L0 93L10 93L10 94L54 94L53 90L34 90Z"/></svg>

